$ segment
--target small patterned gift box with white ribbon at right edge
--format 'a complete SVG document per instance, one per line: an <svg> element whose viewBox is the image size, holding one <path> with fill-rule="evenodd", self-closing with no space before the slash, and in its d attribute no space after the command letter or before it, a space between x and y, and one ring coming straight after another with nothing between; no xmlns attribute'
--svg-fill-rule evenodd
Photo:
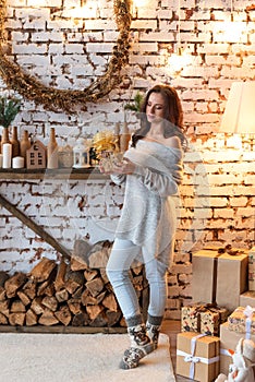
<svg viewBox="0 0 255 382"><path fill-rule="evenodd" d="M255 308L238 307L228 318L229 330L255 334Z"/></svg>

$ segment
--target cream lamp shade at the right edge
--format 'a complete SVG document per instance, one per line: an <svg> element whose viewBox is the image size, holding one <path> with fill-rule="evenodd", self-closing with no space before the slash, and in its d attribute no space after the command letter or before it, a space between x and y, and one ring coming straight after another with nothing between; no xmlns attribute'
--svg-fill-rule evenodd
<svg viewBox="0 0 255 382"><path fill-rule="evenodd" d="M255 133L255 81L232 83L220 132Z"/></svg>

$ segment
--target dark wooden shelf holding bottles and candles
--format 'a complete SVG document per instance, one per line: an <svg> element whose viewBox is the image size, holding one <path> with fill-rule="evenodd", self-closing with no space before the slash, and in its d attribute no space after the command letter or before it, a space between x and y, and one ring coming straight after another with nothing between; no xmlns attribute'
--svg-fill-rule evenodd
<svg viewBox="0 0 255 382"><path fill-rule="evenodd" d="M58 169L0 169L0 179L108 179L96 167Z"/></svg>

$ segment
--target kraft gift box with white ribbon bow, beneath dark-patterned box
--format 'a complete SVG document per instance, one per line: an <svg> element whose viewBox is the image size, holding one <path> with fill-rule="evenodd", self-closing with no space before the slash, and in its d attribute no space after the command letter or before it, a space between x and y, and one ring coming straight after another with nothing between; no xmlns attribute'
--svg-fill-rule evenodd
<svg viewBox="0 0 255 382"><path fill-rule="evenodd" d="M219 374L220 339L194 332L177 336L177 374L211 382Z"/></svg>

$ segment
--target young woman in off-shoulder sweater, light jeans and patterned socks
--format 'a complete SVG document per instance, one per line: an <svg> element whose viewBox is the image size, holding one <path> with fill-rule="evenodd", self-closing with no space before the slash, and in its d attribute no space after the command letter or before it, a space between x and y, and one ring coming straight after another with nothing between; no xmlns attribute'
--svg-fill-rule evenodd
<svg viewBox="0 0 255 382"><path fill-rule="evenodd" d="M167 270L175 232L175 205L182 179L182 107L177 91L156 85L146 94L142 127L133 134L131 148L111 170L117 184L125 182L124 203L116 231L107 275L127 325L131 347L122 369L138 366L157 348L167 300ZM104 171L104 168L101 168ZM149 283L147 322L143 322L130 267L142 254Z"/></svg>

